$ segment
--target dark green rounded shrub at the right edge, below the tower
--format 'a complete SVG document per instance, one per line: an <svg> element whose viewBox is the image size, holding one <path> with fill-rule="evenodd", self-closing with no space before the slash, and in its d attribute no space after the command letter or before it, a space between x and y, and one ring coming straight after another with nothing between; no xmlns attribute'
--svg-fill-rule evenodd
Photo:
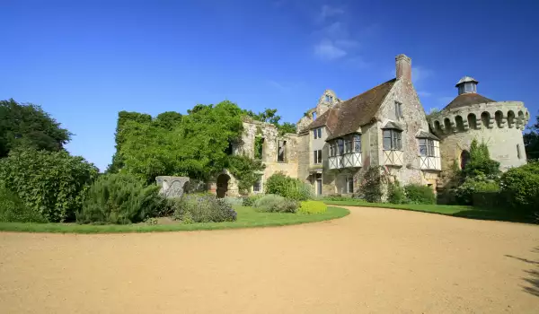
<svg viewBox="0 0 539 314"><path fill-rule="evenodd" d="M509 169L501 176L500 185L510 208L526 214L539 211L539 162Z"/></svg>

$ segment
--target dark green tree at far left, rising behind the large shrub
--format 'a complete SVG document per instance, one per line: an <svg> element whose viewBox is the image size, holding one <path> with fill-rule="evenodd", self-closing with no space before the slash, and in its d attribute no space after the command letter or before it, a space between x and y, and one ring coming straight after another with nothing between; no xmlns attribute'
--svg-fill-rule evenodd
<svg viewBox="0 0 539 314"><path fill-rule="evenodd" d="M0 100L0 158L17 147L57 152L71 135L40 106Z"/></svg>

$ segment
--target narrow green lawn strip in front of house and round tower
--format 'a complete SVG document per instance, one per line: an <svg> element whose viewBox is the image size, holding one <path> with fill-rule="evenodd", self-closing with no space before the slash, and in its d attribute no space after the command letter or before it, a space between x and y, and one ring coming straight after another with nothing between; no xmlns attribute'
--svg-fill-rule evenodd
<svg viewBox="0 0 539 314"><path fill-rule="evenodd" d="M365 206L403 209L431 214L445 214L447 216L463 217L470 219L495 220L503 222L528 222L536 223L535 217L523 216L514 212L500 209L484 209L464 205L423 205L423 204L389 204L389 203L368 203L360 199L345 199L341 201L324 200L328 205L340 206Z"/></svg>

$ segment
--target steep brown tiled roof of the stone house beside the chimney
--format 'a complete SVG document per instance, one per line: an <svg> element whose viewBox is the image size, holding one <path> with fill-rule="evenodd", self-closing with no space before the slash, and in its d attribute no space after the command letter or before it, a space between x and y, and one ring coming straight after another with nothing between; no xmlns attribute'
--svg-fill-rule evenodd
<svg viewBox="0 0 539 314"><path fill-rule="evenodd" d="M308 128L327 126L330 131L327 140L356 132L359 126L372 121L395 82L396 79L381 83L367 92L340 102L314 120Z"/></svg>

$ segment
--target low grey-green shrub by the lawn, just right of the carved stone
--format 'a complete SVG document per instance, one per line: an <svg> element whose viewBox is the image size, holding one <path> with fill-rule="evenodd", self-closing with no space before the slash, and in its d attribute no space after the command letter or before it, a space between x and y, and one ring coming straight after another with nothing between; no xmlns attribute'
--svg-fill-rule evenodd
<svg viewBox="0 0 539 314"><path fill-rule="evenodd" d="M237 214L224 199L211 194L184 194L174 200L174 219L191 222L234 222Z"/></svg>

